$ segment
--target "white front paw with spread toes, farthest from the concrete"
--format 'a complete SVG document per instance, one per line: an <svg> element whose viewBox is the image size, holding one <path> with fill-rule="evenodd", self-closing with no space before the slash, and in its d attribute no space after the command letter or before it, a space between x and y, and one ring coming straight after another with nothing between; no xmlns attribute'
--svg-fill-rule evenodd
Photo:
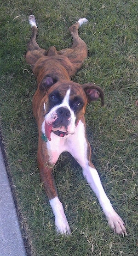
<svg viewBox="0 0 138 256"><path fill-rule="evenodd" d="M122 234L123 237L124 235L127 236L125 223L116 212L114 212L111 216L108 216L107 220L108 220L109 226L111 227L111 229L114 230L116 234L120 234L120 235Z"/></svg>

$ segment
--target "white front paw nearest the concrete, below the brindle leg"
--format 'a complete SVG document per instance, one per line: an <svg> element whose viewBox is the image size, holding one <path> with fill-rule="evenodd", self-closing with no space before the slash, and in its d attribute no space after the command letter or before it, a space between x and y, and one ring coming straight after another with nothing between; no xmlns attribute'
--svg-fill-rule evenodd
<svg viewBox="0 0 138 256"><path fill-rule="evenodd" d="M71 234L71 229L67 219L55 219L56 231L58 234L68 236Z"/></svg>

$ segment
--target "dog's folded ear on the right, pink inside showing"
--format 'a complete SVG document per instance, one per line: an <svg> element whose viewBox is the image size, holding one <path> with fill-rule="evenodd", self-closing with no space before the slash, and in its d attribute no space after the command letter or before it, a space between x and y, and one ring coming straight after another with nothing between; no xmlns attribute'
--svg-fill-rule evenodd
<svg viewBox="0 0 138 256"><path fill-rule="evenodd" d="M102 106L104 106L104 92L99 86L90 82L90 83L83 84L82 87L86 93L88 103L91 101L95 101L100 97L101 104Z"/></svg>

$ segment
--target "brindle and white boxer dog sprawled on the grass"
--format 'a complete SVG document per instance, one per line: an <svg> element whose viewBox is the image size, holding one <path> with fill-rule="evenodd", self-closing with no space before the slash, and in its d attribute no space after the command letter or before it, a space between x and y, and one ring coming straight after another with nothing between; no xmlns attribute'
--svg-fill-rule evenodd
<svg viewBox="0 0 138 256"><path fill-rule="evenodd" d="M67 151L81 165L83 176L96 194L109 226L115 233L124 236L127 235L125 224L104 192L98 172L91 162L91 148L86 137L86 105L98 98L104 105L104 93L92 82L80 85L70 80L87 57L86 43L78 35L78 29L87 22L86 18L81 18L69 27L73 38L71 48L57 51L52 46L45 50L36 43L38 29L35 16L29 16L32 35L25 58L38 85L33 97L33 113L39 131L37 161L55 216L57 233L71 234L52 176L52 168L59 155Z"/></svg>

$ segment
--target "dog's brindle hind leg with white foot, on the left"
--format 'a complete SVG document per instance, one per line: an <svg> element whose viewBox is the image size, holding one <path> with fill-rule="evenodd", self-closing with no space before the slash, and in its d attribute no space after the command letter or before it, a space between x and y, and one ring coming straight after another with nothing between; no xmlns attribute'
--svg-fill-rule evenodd
<svg viewBox="0 0 138 256"><path fill-rule="evenodd" d="M41 49L39 45L36 43L36 36L37 36L38 29L37 29L34 15L29 16L29 24L31 25L31 28L32 28L32 35L31 35L31 40L27 46L27 53L25 58L27 63L33 67L36 61L40 59L40 57L47 55L47 51L45 49Z"/></svg>

